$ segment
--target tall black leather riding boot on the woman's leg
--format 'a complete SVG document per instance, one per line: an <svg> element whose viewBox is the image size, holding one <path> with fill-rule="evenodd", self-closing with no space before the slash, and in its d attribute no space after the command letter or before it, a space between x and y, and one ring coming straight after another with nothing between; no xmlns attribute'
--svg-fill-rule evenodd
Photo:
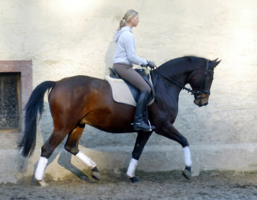
<svg viewBox="0 0 257 200"><path fill-rule="evenodd" d="M134 116L133 128L134 130L150 130L150 126L143 121L144 112L146 111L146 104L148 103L149 92L147 90L141 91L138 95L138 101L136 102L136 111ZM155 129L154 126L151 126L151 129Z"/></svg>

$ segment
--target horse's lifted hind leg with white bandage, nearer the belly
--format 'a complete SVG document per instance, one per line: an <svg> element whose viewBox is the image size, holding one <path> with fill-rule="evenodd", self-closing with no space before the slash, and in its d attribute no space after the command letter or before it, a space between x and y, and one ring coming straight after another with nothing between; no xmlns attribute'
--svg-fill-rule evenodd
<svg viewBox="0 0 257 200"><path fill-rule="evenodd" d="M85 124L78 123L76 128L70 132L68 135L67 141L65 143L65 150L72 153L76 157L80 158L87 167L91 168L91 175L94 179L101 179L101 175L99 170L97 169L97 164L83 152L81 152L78 148L79 140L81 138L82 132L84 130Z"/></svg>

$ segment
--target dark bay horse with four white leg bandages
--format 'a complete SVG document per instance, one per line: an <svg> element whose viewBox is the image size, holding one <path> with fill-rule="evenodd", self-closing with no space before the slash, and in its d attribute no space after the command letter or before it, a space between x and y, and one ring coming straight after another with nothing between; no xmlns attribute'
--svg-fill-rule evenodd
<svg viewBox="0 0 257 200"><path fill-rule="evenodd" d="M214 79L214 67L219 61L207 60L203 57L186 56L165 62L151 70L155 89L155 101L148 106L148 118L155 126L154 132L175 140L182 146L185 168L182 174L191 177L191 153L187 138L174 126L178 111L178 97L182 89L194 95L197 106L207 106L210 89ZM192 89L185 87L190 84ZM97 164L78 148L79 140L85 124L104 130L108 133L133 133L134 106L114 101L111 87L104 79L89 76L66 77L58 82L45 81L33 90L26 104L25 130L18 148L24 157L31 156L35 149L36 125L43 113L43 98L48 91L50 113L53 117L53 133L41 148L35 180L45 186L43 174L53 151L67 136L65 150L80 158L94 179L99 180L101 174ZM138 182L135 176L136 166L143 148L152 135L152 131L138 131L132 158L126 175L131 182Z"/></svg>

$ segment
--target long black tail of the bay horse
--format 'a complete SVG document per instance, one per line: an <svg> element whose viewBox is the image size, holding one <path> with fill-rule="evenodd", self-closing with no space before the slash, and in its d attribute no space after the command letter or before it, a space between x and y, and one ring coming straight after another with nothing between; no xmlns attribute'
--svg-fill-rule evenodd
<svg viewBox="0 0 257 200"><path fill-rule="evenodd" d="M50 89L55 86L55 83L56 82L47 81L39 84L32 91L31 97L28 99L28 103L25 107L26 113L24 135L21 141L18 143L19 150L23 148L21 155L24 157L27 157L28 155L31 156L35 150L38 113L40 113L41 117L43 113L45 91L48 90L49 93Z"/></svg>

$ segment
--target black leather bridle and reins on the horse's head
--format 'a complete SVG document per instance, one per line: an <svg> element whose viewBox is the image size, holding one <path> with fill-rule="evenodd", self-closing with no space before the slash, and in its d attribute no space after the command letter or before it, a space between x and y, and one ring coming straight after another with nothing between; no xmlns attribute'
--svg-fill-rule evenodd
<svg viewBox="0 0 257 200"><path fill-rule="evenodd" d="M206 79L207 79L207 75L208 75L208 72L209 72L209 60L207 60L207 63L206 63L206 69L205 69L205 72L204 72L204 77L202 78L202 87L201 89L199 89L199 91L193 91L192 89L189 89L187 87L184 87L180 84L178 84L177 82L174 82L172 79L168 78L168 77L165 77L164 74L160 73L158 71L158 67L155 67L152 68L151 70L154 70L155 72L157 72L158 74L160 74L162 77L164 77L165 79L167 79L169 82L172 82L173 84L177 85L178 87L180 87L181 89L185 89L186 91L188 91L188 93L191 92L192 95L195 96L195 99L199 99L199 100L202 100L204 98L206 98L207 96L209 96L211 94L211 91L209 90L205 90L204 87L206 86ZM155 77L156 78L156 77ZM209 94L207 96L204 96L202 97L202 94Z"/></svg>

